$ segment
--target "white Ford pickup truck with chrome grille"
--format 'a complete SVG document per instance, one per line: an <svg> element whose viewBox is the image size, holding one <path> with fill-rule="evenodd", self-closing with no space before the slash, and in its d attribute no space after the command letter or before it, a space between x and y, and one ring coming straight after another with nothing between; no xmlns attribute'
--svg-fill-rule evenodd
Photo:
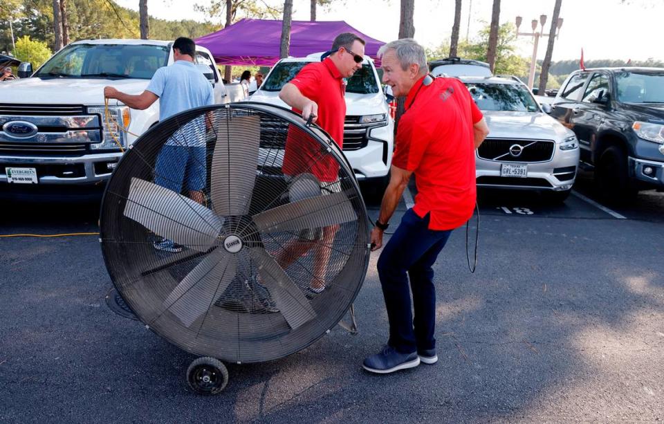
<svg viewBox="0 0 664 424"><path fill-rule="evenodd" d="M107 120L104 86L142 93L158 68L173 63L171 45L142 39L82 40L59 50L35 73L31 64L21 64L19 80L0 84L0 194L71 194L82 187L100 192L100 183L122 156L111 131L123 148L136 140ZM214 86L215 102L227 102L210 51L196 46L195 59ZM158 121L159 102L139 111L111 100L109 112L140 136Z"/></svg>

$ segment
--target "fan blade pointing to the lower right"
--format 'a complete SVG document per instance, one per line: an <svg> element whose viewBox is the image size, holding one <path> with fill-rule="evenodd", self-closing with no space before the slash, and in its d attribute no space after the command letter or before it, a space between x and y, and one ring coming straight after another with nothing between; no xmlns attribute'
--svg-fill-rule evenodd
<svg viewBox="0 0 664 424"><path fill-rule="evenodd" d="M277 308L284 315L291 329L297 329L316 317L308 299L299 291L291 277L288 277L275 259L272 259L262 248L251 248L250 255L258 264L258 273L264 286L275 299Z"/></svg>

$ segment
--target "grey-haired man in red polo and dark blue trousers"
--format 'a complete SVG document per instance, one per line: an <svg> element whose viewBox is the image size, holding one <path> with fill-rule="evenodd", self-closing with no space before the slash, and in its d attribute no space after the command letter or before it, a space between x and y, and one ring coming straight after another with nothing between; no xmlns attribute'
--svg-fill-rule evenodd
<svg viewBox="0 0 664 424"><path fill-rule="evenodd" d="M365 359L363 367L387 374L438 360L432 265L452 230L472 216L474 150L488 134L488 127L461 81L427 74L424 48L414 39L386 44L378 55L382 57L382 81L395 96L406 100L391 179L371 231L374 250L382 246L383 231L412 174L417 183L414 208L404 214L378 259L389 340L380 353Z"/></svg>

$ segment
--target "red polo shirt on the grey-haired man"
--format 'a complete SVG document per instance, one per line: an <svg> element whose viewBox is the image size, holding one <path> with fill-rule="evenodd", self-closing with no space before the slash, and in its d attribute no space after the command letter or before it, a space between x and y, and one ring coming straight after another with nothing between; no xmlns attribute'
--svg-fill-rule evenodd
<svg viewBox="0 0 664 424"><path fill-rule="evenodd" d="M482 113L463 82L423 78L410 89L396 134L392 165L415 174L414 212L430 213L431 230L463 225L477 196L473 125Z"/></svg>

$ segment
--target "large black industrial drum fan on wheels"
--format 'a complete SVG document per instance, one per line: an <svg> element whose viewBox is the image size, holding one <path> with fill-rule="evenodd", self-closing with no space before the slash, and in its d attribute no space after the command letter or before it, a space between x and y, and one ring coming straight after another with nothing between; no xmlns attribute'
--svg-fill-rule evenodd
<svg viewBox="0 0 664 424"><path fill-rule="evenodd" d="M228 382L220 360L282 358L340 322L367 271L368 222L324 131L246 102L147 131L113 172L100 228L118 293L149 329L209 357L187 378L215 394Z"/></svg>

